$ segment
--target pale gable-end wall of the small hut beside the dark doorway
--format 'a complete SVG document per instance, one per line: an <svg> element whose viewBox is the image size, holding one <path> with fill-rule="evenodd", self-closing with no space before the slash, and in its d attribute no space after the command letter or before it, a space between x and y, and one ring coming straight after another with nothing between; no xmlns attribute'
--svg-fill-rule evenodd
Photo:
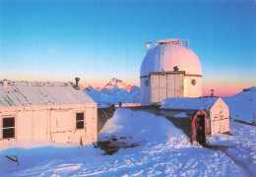
<svg viewBox="0 0 256 177"><path fill-rule="evenodd" d="M210 109L212 135L229 132L229 108L219 98Z"/></svg>

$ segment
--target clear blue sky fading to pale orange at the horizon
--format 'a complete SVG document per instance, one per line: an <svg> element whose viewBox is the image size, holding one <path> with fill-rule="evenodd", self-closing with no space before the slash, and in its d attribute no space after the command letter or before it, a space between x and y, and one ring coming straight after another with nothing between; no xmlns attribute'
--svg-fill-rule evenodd
<svg viewBox="0 0 256 177"><path fill-rule="evenodd" d="M190 39L205 93L256 86L255 1L0 0L0 80L139 84L162 38Z"/></svg>

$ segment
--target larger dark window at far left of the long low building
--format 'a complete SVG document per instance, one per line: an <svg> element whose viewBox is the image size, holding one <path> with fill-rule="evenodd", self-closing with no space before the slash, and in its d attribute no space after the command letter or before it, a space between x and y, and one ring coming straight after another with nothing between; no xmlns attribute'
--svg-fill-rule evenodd
<svg viewBox="0 0 256 177"><path fill-rule="evenodd" d="M3 118L3 139L15 138L15 118Z"/></svg>

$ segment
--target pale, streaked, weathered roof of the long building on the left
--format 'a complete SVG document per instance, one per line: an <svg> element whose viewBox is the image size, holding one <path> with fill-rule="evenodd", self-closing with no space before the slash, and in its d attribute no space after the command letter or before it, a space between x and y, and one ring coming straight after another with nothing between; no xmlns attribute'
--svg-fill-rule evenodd
<svg viewBox="0 0 256 177"><path fill-rule="evenodd" d="M0 83L0 107L85 104L95 101L72 83L8 81L4 89Z"/></svg>

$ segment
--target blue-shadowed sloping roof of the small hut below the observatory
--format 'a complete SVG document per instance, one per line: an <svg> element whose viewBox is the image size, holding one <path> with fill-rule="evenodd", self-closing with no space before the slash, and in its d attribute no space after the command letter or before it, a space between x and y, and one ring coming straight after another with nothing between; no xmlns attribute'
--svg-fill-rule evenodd
<svg viewBox="0 0 256 177"><path fill-rule="evenodd" d="M218 97L170 97L164 101L160 109L210 110L218 99Z"/></svg>

